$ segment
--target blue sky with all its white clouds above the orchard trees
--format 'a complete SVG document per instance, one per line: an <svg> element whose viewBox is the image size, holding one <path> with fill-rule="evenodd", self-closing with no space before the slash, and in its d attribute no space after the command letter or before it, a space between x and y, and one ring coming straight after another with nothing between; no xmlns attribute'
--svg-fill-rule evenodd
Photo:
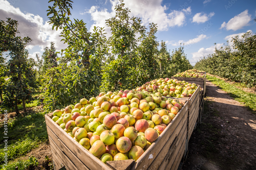
<svg viewBox="0 0 256 170"><path fill-rule="evenodd" d="M114 6L118 0L74 0L72 17L82 19L91 27L105 26L105 19L114 16ZM165 41L168 50L185 43L185 53L190 63L213 53L217 47L241 36L247 31L256 32L255 0L124 0L131 10L131 16L140 17L145 26L157 23L157 40ZM60 31L53 31L47 23L48 1L0 0L0 19L10 17L18 20L20 36L29 36L33 41L27 49L30 57L43 53L50 42L55 42L57 50L67 45L60 42ZM106 28L106 32L110 33ZM110 34L109 34L110 35ZM232 43L231 43L232 44Z"/></svg>

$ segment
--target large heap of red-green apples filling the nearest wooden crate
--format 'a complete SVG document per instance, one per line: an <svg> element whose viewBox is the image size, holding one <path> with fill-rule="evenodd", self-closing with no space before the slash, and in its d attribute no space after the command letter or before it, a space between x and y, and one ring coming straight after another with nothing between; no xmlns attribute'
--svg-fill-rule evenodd
<svg viewBox="0 0 256 170"><path fill-rule="evenodd" d="M52 120L104 163L136 161L183 105L159 92L109 91L55 110Z"/></svg>

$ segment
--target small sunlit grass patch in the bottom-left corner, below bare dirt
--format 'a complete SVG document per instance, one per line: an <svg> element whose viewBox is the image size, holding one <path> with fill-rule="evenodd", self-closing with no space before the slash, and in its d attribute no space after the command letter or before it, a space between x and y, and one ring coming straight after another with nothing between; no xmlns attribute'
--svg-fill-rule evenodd
<svg viewBox="0 0 256 170"><path fill-rule="evenodd" d="M29 157L27 160L18 160L8 163L7 166L4 166L4 169L15 170L15 167L18 167L19 170L26 170L29 169L30 167L36 167L37 165L37 158ZM0 168L3 169L3 165L0 165Z"/></svg>

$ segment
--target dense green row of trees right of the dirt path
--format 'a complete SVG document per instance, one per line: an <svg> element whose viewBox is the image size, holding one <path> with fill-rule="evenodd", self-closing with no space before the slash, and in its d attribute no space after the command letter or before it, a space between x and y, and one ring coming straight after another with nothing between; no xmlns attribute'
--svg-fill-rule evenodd
<svg viewBox="0 0 256 170"><path fill-rule="evenodd" d="M232 46L215 48L214 54L196 62L195 69L256 87L256 35L247 32L241 37L233 37Z"/></svg>

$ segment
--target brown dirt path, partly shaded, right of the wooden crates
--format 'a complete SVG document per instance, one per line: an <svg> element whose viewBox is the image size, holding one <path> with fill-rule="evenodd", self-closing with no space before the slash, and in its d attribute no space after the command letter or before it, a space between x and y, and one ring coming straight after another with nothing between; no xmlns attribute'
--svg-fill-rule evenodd
<svg viewBox="0 0 256 170"><path fill-rule="evenodd" d="M207 81L204 115L182 169L256 169L256 114Z"/></svg>

